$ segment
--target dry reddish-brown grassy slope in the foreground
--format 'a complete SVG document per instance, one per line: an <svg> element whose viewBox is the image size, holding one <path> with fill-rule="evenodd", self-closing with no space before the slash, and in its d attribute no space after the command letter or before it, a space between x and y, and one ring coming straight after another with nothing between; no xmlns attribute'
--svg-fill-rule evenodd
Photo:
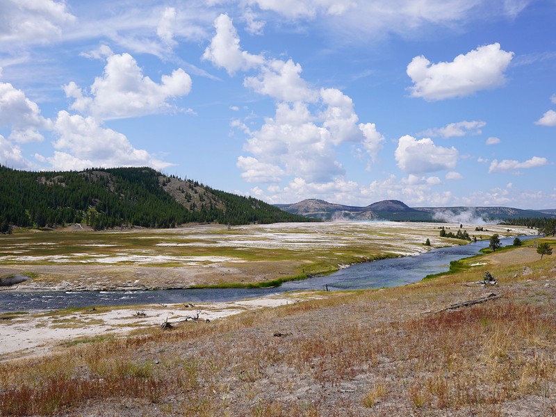
<svg viewBox="0 0 556 417"><path fill-rule="evenodd" d="M2 414L554 416L555 258L483 259L496 288L470 270L1 363Z"/></svg>

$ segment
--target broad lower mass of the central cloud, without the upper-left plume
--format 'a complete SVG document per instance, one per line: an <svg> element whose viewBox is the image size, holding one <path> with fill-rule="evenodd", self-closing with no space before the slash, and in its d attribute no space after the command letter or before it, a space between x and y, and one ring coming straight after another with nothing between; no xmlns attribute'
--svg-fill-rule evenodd
<svg viewBox="0 0 556 417"><path fill-rule="evenodd" d="M340 90L322 89L320 96L320 111L311 112L309 104L302 101L282 101L277 104L275 117L266 117L261 129L250 131L236 124L250 136L244 149L255 156L257 163L248 161L250 165L275 166L266 167L267 172L272 172L272 181L288 175L313 183L332 181L345 174L344 167L336 161L336 147L342 143L358 143L375 161L385 141L375 124L358 123L352 99ZM245 168L245 160L238 166ZM259 171L250 167L244 178L264 178L263 174L256 174Z"/></svg>

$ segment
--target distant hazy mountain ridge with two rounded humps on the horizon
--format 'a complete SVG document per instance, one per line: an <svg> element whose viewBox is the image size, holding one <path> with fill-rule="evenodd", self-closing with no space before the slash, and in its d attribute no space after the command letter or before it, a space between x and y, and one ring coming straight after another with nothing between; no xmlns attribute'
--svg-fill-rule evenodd
<svg viewBox="0 0 556 417"><path fill-rule="evenodd" d="M288 213L320 220L395 220L488 222L516 218L555 218L556 210L523 210L512 207L414 207L387 199L365 207L344 206L322 199L305 199L295 204L276 204Z"/></svg>

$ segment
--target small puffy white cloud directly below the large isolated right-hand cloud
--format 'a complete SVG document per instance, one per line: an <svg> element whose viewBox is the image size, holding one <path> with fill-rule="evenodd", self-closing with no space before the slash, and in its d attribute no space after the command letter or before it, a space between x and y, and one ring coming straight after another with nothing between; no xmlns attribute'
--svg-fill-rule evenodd
<svg viewBox="0 0 556 417"><path fill-rule="evenodd" d="M425 174L453 170L457 164L458 152L455 147L436 146L430 138L417 140L406 135L398 140L394 156L403 172Z"/></svg>

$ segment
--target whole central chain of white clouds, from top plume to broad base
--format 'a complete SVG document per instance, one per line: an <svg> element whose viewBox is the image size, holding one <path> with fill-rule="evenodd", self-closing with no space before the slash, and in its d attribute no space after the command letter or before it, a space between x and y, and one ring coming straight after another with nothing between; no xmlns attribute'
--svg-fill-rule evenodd
<svg viewBox="0 0 556 417"><path fill-rule="evenodd" d="M228 72L257 67L243 85L276 101L274 117L260 129L234 120L231 126L248 136L236 165L247 181L277 183L284 177L309 183L328 182L345 174L336 161L336 147L354 142L375 161L384 137L373 123L359 123L351 97L336 88L314 88L302 78L302 67L292 59L265 59L240 49L240 40L227 15L215 21L217 33L204 58Z"/></svg>

